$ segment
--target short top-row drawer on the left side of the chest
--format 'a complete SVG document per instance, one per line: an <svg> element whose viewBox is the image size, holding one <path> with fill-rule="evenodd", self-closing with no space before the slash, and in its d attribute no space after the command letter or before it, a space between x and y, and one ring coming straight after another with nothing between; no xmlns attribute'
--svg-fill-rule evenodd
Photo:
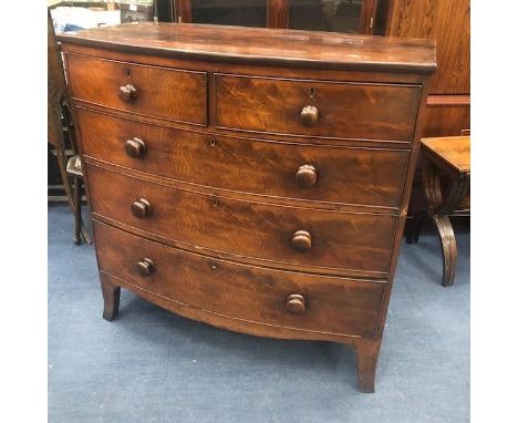
<svg viewBox="0 0 518 423"><path fill-rule="evenodd" d="M66 54L66 66L75 100L139 115L207 124L205 72L77 54Z"/></svg>

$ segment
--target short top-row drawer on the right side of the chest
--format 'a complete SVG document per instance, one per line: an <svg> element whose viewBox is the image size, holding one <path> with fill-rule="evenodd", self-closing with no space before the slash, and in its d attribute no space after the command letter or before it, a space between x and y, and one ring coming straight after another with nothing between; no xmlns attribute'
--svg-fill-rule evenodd
<svg viewBox="0 0 518 423"><path fill-rule="evenodd" d="M418 85L215 75L215 125L242 131L411 142Z"/></svg>

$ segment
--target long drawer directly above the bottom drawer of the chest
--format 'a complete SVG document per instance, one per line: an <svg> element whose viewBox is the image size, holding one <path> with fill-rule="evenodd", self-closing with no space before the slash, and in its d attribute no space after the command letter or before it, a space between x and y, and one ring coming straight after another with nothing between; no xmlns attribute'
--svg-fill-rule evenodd
<svg viewBox="0 0 518 423"><path fill-rule="evenodd" d="M395 216L252 203L145 182L91 164L86 171L94 214L130 227L235 256L388 271Z"/></svg>

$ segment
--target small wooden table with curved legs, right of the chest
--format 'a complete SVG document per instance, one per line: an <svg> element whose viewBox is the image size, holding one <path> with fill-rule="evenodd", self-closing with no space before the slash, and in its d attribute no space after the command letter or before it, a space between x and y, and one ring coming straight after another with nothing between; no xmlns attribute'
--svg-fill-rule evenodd
<svg viewBox="0 0 518 423"><path fill-rule="evenodd" d="M423 138L422 172L427 209L416 217L406 241L417 243L423 218L427 215L441 237L443 287L449 287L457 266L457 243L449 216L469 214L470 137Z"/></svg>

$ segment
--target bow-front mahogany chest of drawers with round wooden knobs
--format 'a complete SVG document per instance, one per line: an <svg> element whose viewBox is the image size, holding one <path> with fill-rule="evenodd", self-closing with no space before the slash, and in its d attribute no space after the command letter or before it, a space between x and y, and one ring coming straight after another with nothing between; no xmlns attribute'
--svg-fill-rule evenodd
<svg viewBox="0 0 518 423"><path fill-rule="evenodd" d="M432 41L142 23L66 33L104 318L328 340L374 374Z"/></svg>

